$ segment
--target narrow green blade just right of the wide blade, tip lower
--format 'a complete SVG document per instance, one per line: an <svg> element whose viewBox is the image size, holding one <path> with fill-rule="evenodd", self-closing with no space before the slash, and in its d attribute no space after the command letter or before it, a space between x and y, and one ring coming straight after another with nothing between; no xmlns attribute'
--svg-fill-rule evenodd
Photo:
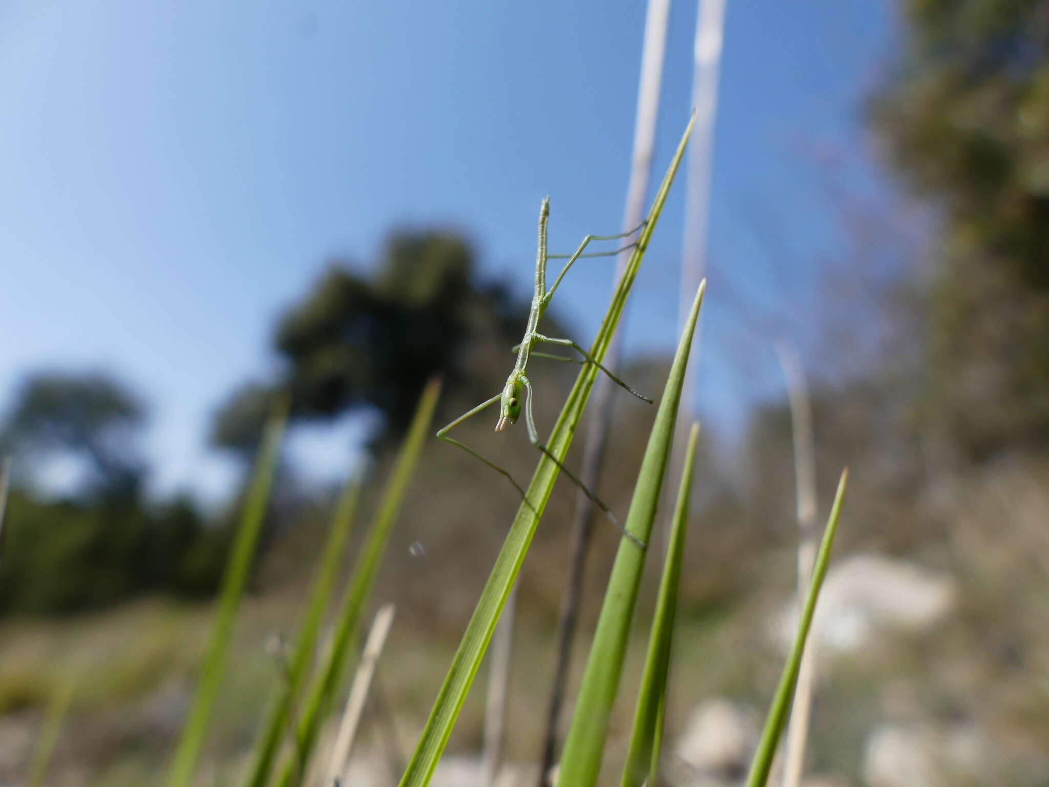
<svg viewBox="0 0 1049 787"><path fill-rule="evenodd" d="M659 750L663 732L662 717L666 699L667 674L670 669L670 645L673 642L673 617L678 611L678 587L681 563L685 551L685 528L688 525L688 504L692 494L692 468L695 465L695 442L700 437L699 423L692 424L685 452L685 466L681 473L678 503L673 509L670 541L663 561L651 634L648 637L648 656L641 677L638 706L634 714L634 731L623 766L621 787L641 787L645 778L656 784Z"/></svg>

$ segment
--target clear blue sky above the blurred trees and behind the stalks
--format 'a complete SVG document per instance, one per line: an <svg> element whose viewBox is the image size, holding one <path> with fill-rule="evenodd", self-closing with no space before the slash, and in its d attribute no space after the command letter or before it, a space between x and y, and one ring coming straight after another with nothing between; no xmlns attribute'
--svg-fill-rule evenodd
<svg viewBox="0 0 1049 787"><path fill-rule="evenodd" d="M791 315L816 286L807 264L771 269L746 214L814 259L837 242L817 151L878 188L857 108L891 12L728 2L698 386L726 423L779 384L747 320L804 331ZM694 14L671 15L657 173L690 109ZM643 23L643 3L596 0L0 0L0 402L30 369L109 369L150 403L154 489L217 493L211 413L273 367L273 320L326 260L452 226L526 294L544 194L554 250L618 231ZM639 282L635 354L675 339L682 194ZM594 260L559 292L583 340L609 285ZM344 471L345 431L300 441L318 473Z"/></svg>

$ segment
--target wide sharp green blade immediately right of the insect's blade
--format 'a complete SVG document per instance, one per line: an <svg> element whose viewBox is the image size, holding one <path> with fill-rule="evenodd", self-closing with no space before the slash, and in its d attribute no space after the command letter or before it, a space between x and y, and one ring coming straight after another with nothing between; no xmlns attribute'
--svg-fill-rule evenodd
<svg viewBox="0 0 1049 787"><path fill-rule="evenodd" d="M695 320L700 315L705 290L704 280L695 293L692 311L678 342L678 352L675 354L673 365L670 366L670 375L663 388L656 423L652 424L645 455L641 461L630 510L626 514L627 532L645 544L651 535L656 508L663 488L663 476L673 444L673 426L678 419L681 389L685 383L692 333L695 329ZM630 621L634 618L634 607L638 599L644 565L644 551L628 540L620 543L612 568L612 577L608 579L608 589L604 594L601 616L598 618L594 643L591 645L590 658L586 661L586 672L583 673L582 686L576 700L572 726L569 727L569 735L564 741L564 752L558 770L559 784L586 787L597 782L601 770L608 717L612 714L616 692L619 689L619 677L623 671L623 660L626 658Z"/></svg>

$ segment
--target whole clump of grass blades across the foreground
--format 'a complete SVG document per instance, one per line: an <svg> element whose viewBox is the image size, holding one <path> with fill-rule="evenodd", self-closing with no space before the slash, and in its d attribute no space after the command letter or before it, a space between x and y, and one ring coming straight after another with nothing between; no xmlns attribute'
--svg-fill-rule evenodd
<svg viewBox="0 0 1049 787"><path fill-rule="evenodd" d="M598 360L604 357L612 342L626 297L663 210L691 128L692 122L690 121L657 193L644 231L630 256L625 273L595 339L591 353ZM597 783L600 775L609 718L622 678L631 621L646 557L646 549L639 547L639 545L650 540L657 505L672 447L692 334L703 302L705 286L706 282L704 281L695 293L639 470L624 528L624 535L627 537L620 541L564 746L558 778L562 787L591 787ZM414 754L404 771L401 787L425 787L430 782L496 622L517 578L535 529L556 482L559 470L558 463L563 461L568 453L598 374L595 365L584 365L565 402L553 433L547 442L550 455L543 455L539 459L526 493L527 501L518 509L502 550L496 558L488 583L452 660ZM360 621L386 554L391 530L399 517L406 489L413 475L425 438L431 428L440 390L440 382L432 380L423 391L411 426L395 460L391 476L383 492L371 526L364 537L364 544L349 581L337 604L329 646L315 666L321 626L335 594L339 569L349 540L360 498L361 482L356 480L347 484L340 497L327 540L318 558L316 578L296 641L290 658L283 663L283 681L276 687L269 711L260 725L252 763L242 782L243 787L270 787L271 785L294 787L302 785L307 774L312 772L311 766L314 764L320 731L331 718L335 701L343 690L343 684L352 663ZM267 505L270 486L277 465L287 407L288 403L284 399L274 405L259 449L259 458L252 476L240 527L227 567L210 646L190 714L169 771L168 787L188 787L199 759L211 711L224 672L235 617L255 555ZM675 615L682 573L685 527L689 511L698 433L699 427L693 425L672 517L672 531L664 559L656 612L649 632L648 653L641 679L629 747L621 777L621 787L642 787L646 781L649 785L655 785L659 781L663 716L666 706ZM3 474L0 473L0 475ZM837 489L830 520L808 586L798 630L766 717L763 733L749 771L747 787L763 787L768 781L772 760L797 685L805 643L827 573L847 481L848 471L842 474ZM0 480L0 523L2 523L3 486L3 482ZM385 615L384 618L382 635L378 637L378 641L381 641L388 631L389 615ZM377 651L378 646L376 645L372 650ZM360 718L368 677L367 668L362 671L360 689L354 693L348 704L344 731L336 747L337 753L331 758L331 763L327 768L328 781L334 779L334 774L345 769L344 760L349 751L352 733ZM61 698L59 699L61 700ZM39 741L38 756L30 774L30 784L42 783L65 715L65 700L57 701L48 715L49 721ZM283 754L282 760L279 759L281 754ZM329 785L325 785L325 787L329 787Z"/></svg>

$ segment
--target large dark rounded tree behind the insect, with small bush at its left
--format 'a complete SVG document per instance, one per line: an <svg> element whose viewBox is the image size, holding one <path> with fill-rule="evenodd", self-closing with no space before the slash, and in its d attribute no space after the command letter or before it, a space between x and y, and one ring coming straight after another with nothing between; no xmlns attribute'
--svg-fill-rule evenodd
<svg viewBox="0 0 1049 787"><path fill-rule="evenodd" d="M250 455L277 389L292 392L293 418L370 407L395 437L431 375L452 390L475 375L463 364L466 342L493 332L509 347L524 324L527 306L501 286L478 285L470 248L453 234L395 233L370 275L355 269L333 263L282 316L273 340L282 373L228 400L213 425L216 445Z"/></svg>

